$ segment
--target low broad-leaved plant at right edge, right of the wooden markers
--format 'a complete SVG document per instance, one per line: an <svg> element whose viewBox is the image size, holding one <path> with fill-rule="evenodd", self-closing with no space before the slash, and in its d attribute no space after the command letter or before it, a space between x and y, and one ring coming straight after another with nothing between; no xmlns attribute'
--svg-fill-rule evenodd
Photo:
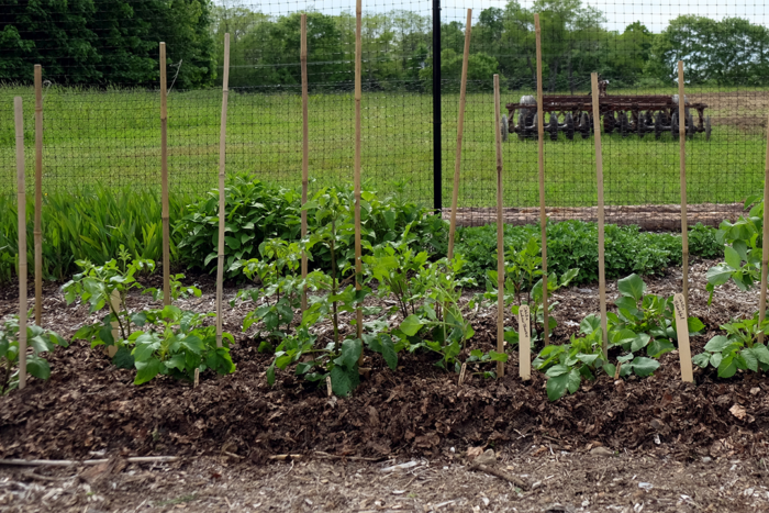
<svg viewBox="0 0 769 513"><path fill-rule="evenodd" d="M718 369L720 378L731 378L738 369L769 370L769 349L758 342L769 335L769 320L758 322L758 312L750 319L733 321L721 326L726 335L716 335L705 344L704 352L692 358L694 365Z"/></svg>

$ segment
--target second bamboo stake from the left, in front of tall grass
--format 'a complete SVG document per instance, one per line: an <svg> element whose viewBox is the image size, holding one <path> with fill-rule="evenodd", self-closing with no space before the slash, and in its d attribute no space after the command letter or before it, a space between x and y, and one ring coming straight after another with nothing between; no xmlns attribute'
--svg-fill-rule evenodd
<svg viewBox="0 0 769 513"><path fill-rule="evenodd" d="M43 67L35 65L35 324L43 325Z"/></svg>

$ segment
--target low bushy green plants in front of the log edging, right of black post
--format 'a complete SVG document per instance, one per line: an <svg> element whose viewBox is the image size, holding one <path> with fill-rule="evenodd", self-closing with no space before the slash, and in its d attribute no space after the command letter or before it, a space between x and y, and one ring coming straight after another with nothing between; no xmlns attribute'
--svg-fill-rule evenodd
<svg viewBox="0 0 769 513"><path fill-rule="evenodd" d="M504 245L521 252L531 237L539 237L539 227L504 226ZM642 232L638 226L605 226L606 279L628 272L653 275L681 264L681 237L669 233ZM722 244L715 230L703 225L690 230L690 254L710 257ZM468 260L469 276L483 280L487 270L497 269L497 225L459 227L456 253ZM564 221L547 225L547 269L562 275L578 268L573 283L598 281L598 225L583 221Z"/></svg>

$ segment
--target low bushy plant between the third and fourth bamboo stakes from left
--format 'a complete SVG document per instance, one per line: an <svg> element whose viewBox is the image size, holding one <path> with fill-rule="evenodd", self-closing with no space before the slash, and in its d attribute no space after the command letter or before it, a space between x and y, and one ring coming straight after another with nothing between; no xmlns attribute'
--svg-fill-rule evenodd
<svg viewBox="0 0 769 513"><path fill-rule="evenodd" d="M131 356L136 367L134 384L145 383L158 375L192 381L196 369L212 369L220 375L235 371L230 357L234 338L222 334L222 347L216 347L216 326L204 326L203 320L214 313L199 314L174 305L144 312L144 330L127 339L133 345Z"/></svg>

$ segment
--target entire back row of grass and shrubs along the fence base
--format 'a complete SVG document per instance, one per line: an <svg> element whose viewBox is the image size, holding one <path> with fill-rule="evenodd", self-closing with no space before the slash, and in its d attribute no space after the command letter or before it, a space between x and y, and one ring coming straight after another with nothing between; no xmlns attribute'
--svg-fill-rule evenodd
<svg viewBox="0 0 769 513"><path fill-rule="evenodd" d="M352 202L349 188L341 201ZM171 264L177 268L213 271L216 265L219 230L218 191L205 196L175 193L170 197ZM379 196L363 194L364 243L376 246L395 241L406 224L415 244L432 258L446 255L448 225L438 216L395 191ZM258 246L271 237L298 241L301 232L301 194L253 179L248 175L231 177L226 193L226 266L227 277L241 276L233 266L241 259L258 256ZM34 203L27 205L27 259L34 250ZM16 205L13 198L0 196L0 282L14 278L18 270ZM316 209L308 210L309 232L319 227ZM46 280L64 280L76 271L77 260L108 261L118 257L124 245L134 257L159 260L163 248L159 194L153 189L99 186L71 192L45 196L43 203L43 275ZM505 225L505 247L521 249L537 225ZM566 272L581 269L576 283L598 279L598 227L595 223L565 221L549 224L548 268ZM459 227L456 253L468 261L466 276L482 280L488 269L495 268L495 225ZM723 244L715 228L698 224L690 230L690 254L713 258L723 254ZM342 260L352 258L353 249L339 248ZM605 265L609 279L631 272L649 275L680 265L681 237L670 233L645 233L637 226L606 226ZM315 255L314 265L328 270L328 252Z"/></svg>

